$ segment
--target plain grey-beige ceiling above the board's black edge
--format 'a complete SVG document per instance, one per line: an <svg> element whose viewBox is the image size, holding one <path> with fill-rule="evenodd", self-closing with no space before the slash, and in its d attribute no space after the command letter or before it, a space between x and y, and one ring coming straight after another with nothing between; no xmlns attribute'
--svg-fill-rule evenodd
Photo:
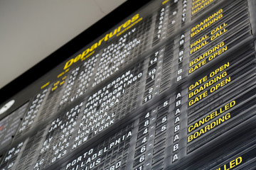
<svg viewBox="0 0 256 170"><path fill-rule="evenodd" d="M0 1L0 89L124 1Z"/></svg>

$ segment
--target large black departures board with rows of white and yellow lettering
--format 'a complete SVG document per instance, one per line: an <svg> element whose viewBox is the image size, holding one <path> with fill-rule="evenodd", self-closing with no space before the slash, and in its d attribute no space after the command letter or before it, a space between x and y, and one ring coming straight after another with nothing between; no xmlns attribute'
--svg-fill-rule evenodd
<svg viewBox="0 0 256 170"><path fill-rule="evenodd" d="M256 2L132 6L1 103L1 170L256 169Z"/></svg>

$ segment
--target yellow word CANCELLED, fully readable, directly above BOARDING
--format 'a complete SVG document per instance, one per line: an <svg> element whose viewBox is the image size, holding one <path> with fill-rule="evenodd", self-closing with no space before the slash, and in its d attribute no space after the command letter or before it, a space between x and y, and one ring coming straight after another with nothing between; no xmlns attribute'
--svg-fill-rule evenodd
<svg viewBox="0 0 256 170"><path fill-rule="evenodd" d="M188 127L188 132L192 132L193 130L200 128L205 123L208 123L208 121L212 120L213 118L216 118L218 115L222 113L225 113L225 111L228 111L230 108L233 108L233 106L235 106L235 101L230 101L230 103L226 104L222 108L218 109L217 111L214 111L213 113L210 113L209 115L206 115L204 118L194 123L193 125L190 125Z"/></svg>

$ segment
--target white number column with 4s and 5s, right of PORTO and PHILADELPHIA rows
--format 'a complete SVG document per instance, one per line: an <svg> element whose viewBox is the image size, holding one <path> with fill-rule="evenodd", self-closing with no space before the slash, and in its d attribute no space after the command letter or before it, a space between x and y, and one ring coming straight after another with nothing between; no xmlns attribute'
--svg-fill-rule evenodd
<svg viewBox="0 0 256 170"><path fill-rule="evenodd" d="M139 118L134 169L163 169L168 111L169 100L166 100Z"/></svg>

